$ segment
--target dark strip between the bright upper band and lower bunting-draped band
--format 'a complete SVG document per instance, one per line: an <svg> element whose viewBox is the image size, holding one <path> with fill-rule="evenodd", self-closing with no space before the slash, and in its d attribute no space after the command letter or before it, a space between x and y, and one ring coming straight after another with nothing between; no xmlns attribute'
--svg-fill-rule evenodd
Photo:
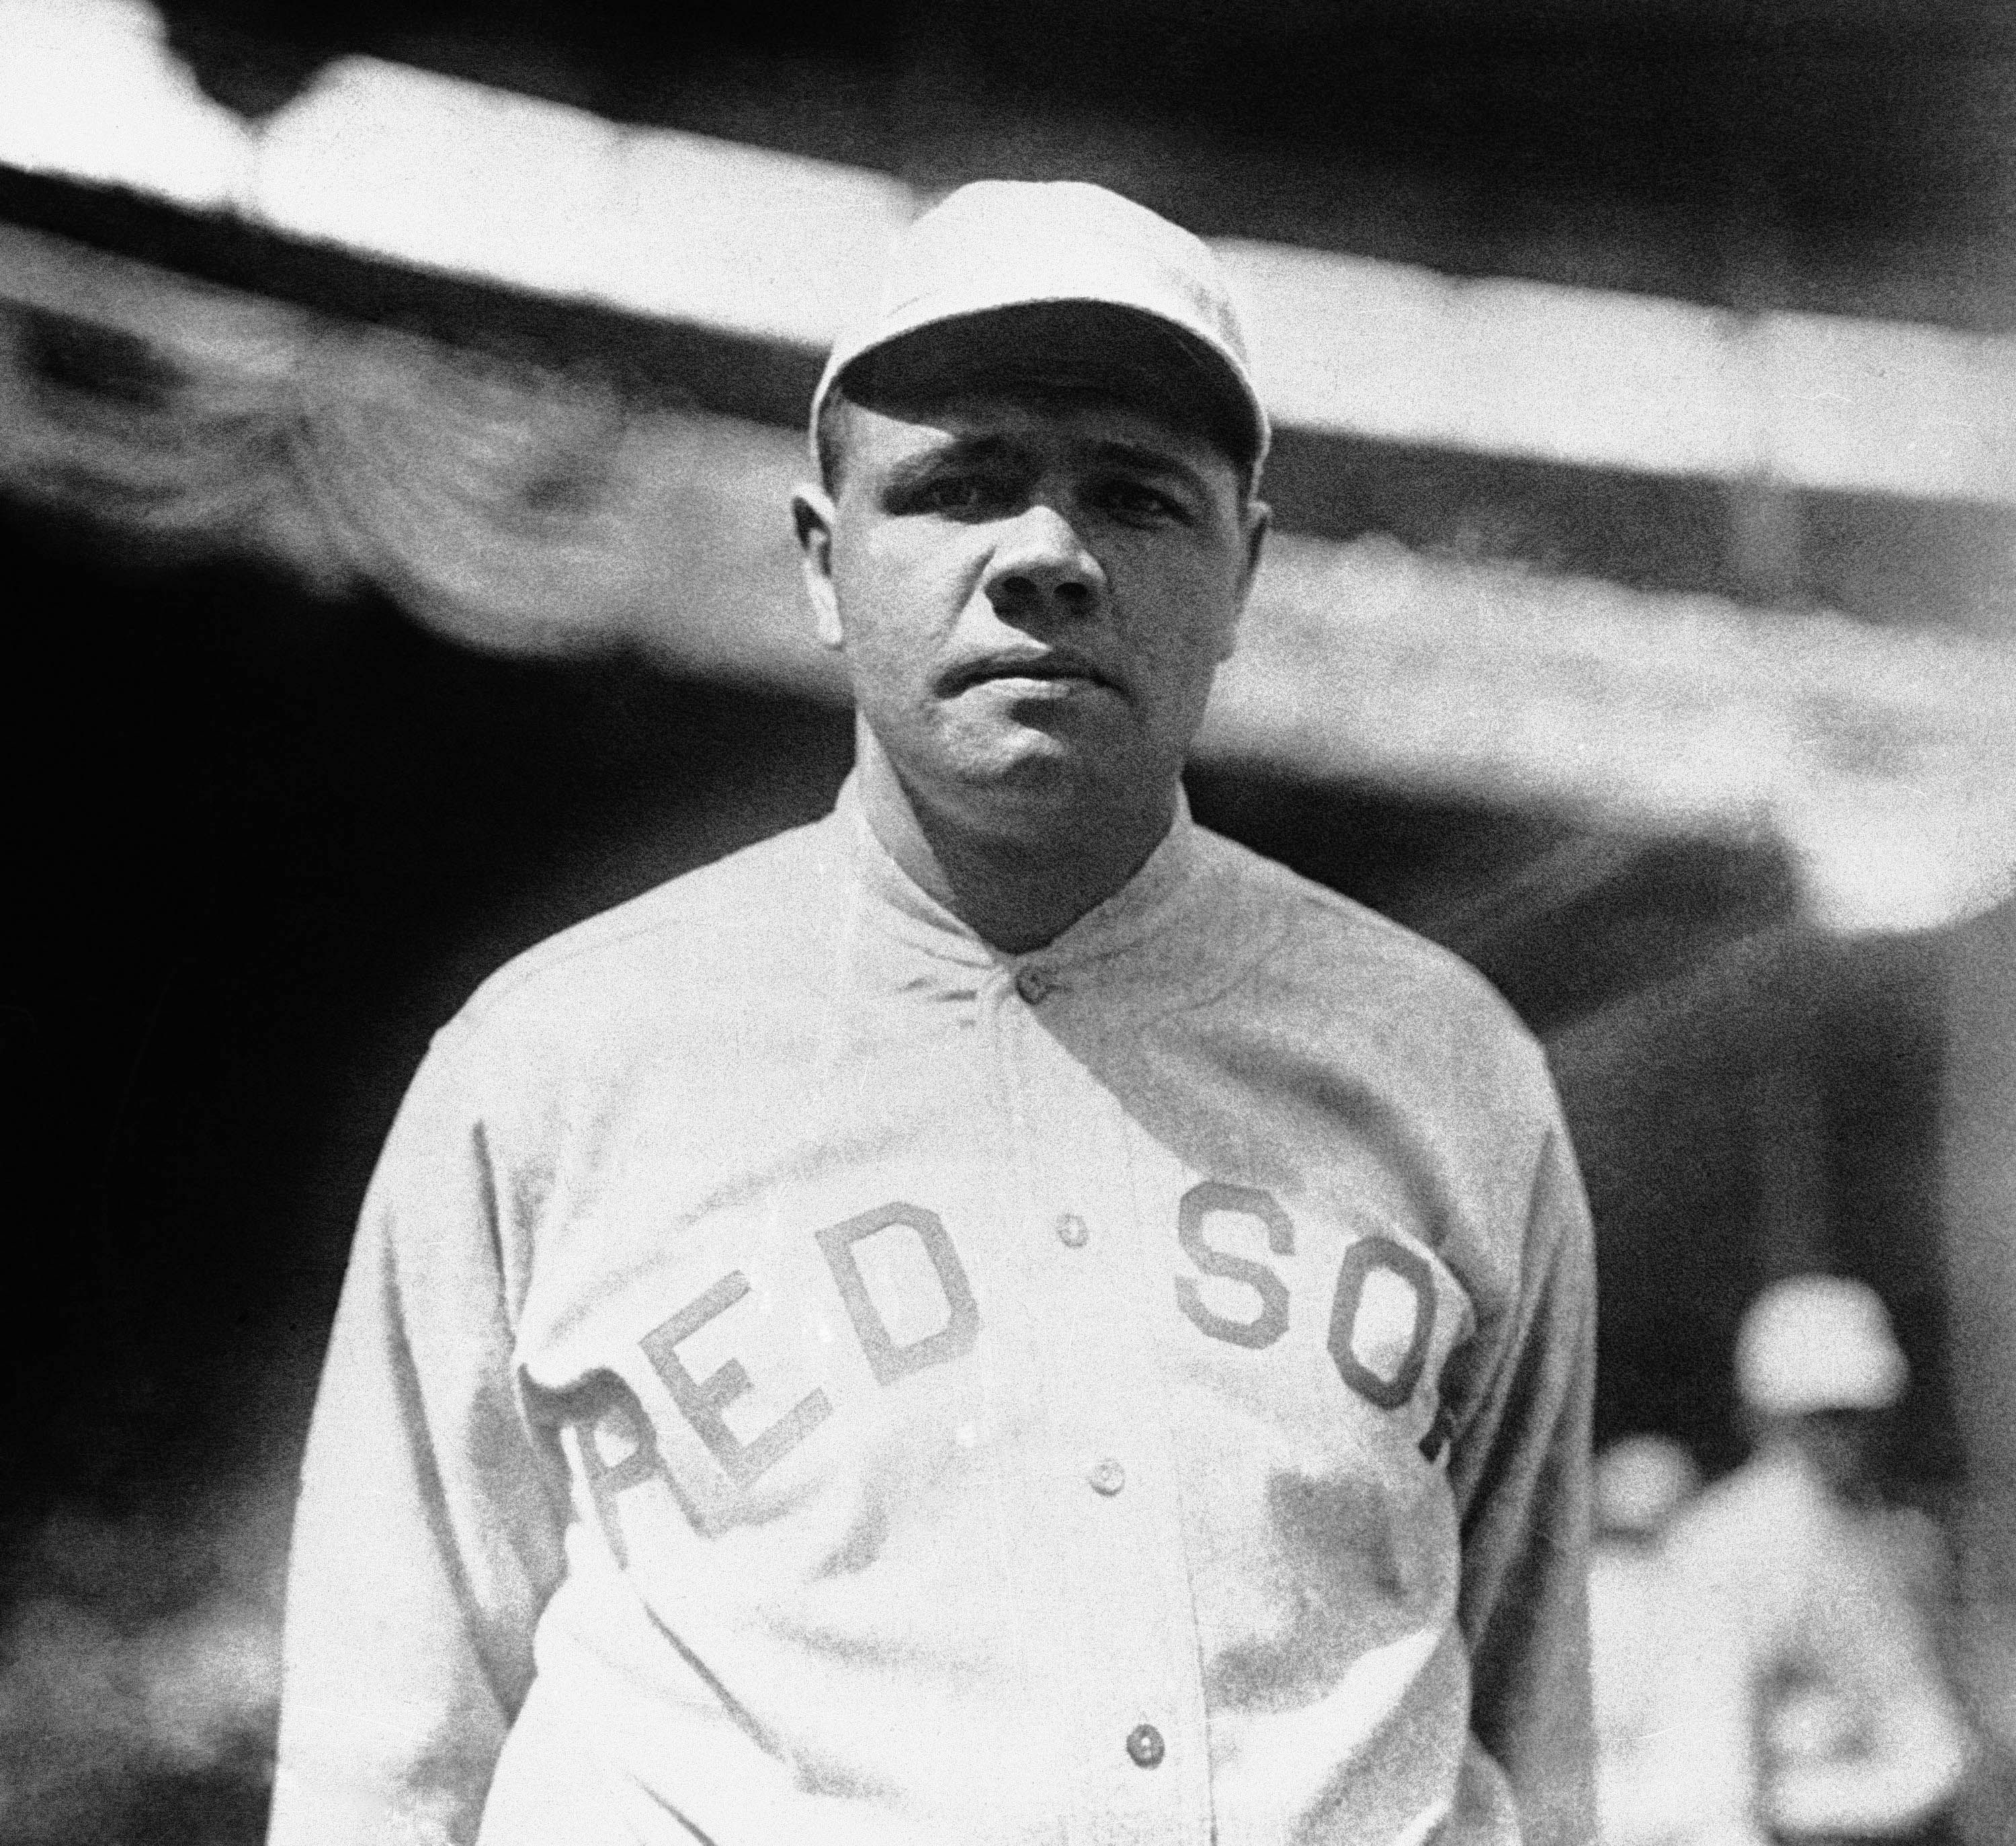
<svg viewBox="0 0 2016 1846"><path fill-rule="evenodd" d="M308 244L224 214L0 169L0 224L65 248L419 333L500 359L597 377L625 401L794 428L821 353L685 321L532 295ZM26 260L26 258L22 258ZM1802 599L1913 625L2008 631L2016 504L1784 490L1804 533ZM1266 470L1276 525L1327 539L1385 533L1421 551L1498 557L1637 589L1760 597L1732 541L1744 490L1282 428Z"/></svg>

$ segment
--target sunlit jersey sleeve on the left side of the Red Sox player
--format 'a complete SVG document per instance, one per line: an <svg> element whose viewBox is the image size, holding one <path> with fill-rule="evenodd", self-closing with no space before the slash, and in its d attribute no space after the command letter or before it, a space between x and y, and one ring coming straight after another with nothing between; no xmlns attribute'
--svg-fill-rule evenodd
<svg viewBox="0 0 2016 1846"><path fill-rule="evenodd" d="M462 1846L532 1679L562 1489L520 1418L480 1116L421 1069L302 1465L270 1846Z"/></svg>

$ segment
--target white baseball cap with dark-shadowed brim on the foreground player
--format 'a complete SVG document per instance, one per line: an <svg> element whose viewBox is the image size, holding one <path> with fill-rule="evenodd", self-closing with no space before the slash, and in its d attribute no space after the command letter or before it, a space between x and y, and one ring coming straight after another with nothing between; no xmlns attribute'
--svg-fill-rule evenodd
<svg viewBox="0 0 2016 1846"><path fill-rule="evenodd" d="M814 462L818 414L843 373L956 383L988 361L1081 365L1095 381L1153 371L1163 389L1202 393L1248 478L1266 458L1266 410L1218 258L1103 186L978 180L917 218L873 317L827 359Z"/></svg>

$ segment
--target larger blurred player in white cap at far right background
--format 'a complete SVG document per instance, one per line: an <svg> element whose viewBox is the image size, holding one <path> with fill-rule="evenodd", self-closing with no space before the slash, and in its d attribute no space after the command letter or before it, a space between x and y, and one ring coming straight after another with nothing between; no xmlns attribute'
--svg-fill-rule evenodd
<svg viewBox="0 0 2016 1846"><path fill-rule="evenodd" d="M1923 1594L1937 1539L1875 1495L1907 1380L1865 1283L1764 1289L1736 1340L1752 1457L1673 1531L1687 1594L1730 1650L1708 1675L1750 1723L1752 1812L1772 1840L1945 1840L1968 1771Z"/></svg>

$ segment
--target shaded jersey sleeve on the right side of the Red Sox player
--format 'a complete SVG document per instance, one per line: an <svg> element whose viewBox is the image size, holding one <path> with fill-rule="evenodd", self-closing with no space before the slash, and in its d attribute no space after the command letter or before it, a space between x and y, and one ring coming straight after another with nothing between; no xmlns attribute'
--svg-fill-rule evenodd
<svg viewBox="0 0 2016 1846"><path fill-rule="evenodd" d="M1472 1731L1504 1771L1526 1846L1595 1840L1589 1701L1589 1426L1595 1255L1566 1130L1528 1198L1520 1289L1498 1362L1456 1432L1460 1622Z"/></svg>

